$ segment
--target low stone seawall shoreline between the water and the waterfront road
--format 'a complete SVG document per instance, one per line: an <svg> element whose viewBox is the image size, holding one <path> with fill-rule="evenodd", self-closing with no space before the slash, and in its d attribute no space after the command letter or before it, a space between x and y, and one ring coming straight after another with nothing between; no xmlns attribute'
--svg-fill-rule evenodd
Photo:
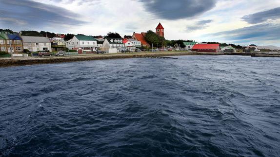
<svg viewBox="0 0 280 157"><path fill-rule="evenodd" d="M54 64L66 62L79 62L103 59L122 59L136 57L160 57L160 56L180 56L180 55L224 55L223 53L211 52L140 52L140 53L115 53L115 54L89 54L74 56L56 57L21 57L21 58L0 58L0 67L26 66L34 64Z"/></svg>

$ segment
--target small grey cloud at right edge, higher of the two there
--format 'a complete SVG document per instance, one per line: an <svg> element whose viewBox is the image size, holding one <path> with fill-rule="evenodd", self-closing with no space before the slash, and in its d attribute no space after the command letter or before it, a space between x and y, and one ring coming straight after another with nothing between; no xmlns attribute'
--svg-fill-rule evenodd
<svg viewBox="0 0 280 157"><path fill-rule="evenodd" d="M279 19L279 18L280 18L280 7L242 17L244 21L251 24L264 22L268 19Z"/></svg>

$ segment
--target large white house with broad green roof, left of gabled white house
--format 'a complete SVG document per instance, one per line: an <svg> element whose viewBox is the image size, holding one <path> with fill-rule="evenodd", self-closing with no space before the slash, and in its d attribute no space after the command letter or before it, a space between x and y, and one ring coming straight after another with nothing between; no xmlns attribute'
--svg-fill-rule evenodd
<svg viewBox="0 0 280 157"><path fill-rule="evenodd" d="M97 41L93 36L75 35L72 39L66 41L66 47L69 50L81 48L84 52L96 51Z"/></svg>

